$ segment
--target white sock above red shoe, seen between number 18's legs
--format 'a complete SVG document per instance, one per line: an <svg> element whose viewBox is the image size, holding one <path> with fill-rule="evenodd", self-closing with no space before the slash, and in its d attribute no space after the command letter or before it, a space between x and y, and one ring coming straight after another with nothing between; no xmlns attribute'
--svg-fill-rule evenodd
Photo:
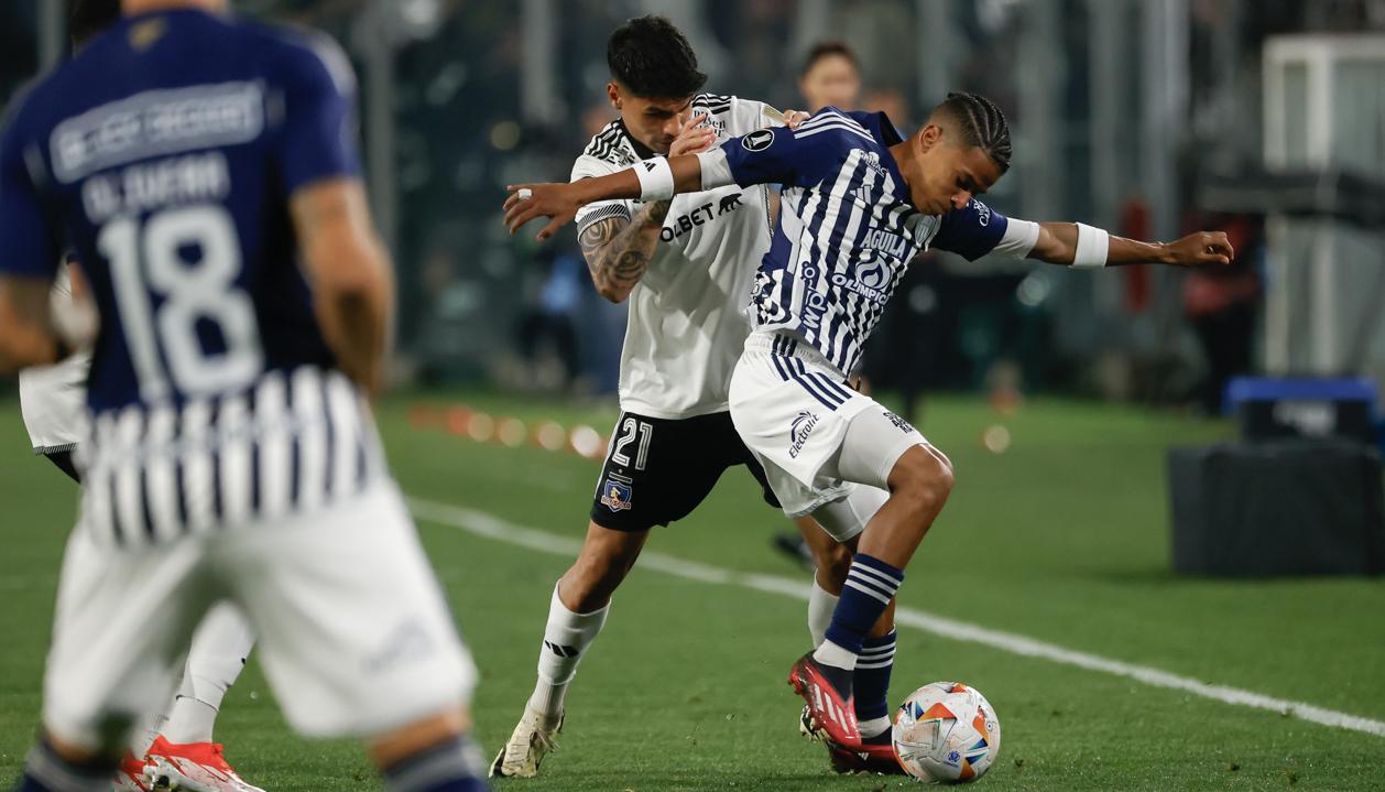
<svg viewBox="0 0 1385 792"><path fill-rule="evenodd" d="M187 666L163 737L169 742L211 742L216 713L226 691L245 667L255 645L249 623L241 611L222 602L206 612L193 634Z"/></svg>

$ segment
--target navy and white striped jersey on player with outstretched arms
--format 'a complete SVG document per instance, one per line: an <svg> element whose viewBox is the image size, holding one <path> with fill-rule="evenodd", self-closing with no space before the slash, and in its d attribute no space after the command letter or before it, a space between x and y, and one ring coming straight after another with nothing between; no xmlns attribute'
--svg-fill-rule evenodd
<svg viewBox="0 0 1385 792"><path fill-rule="evenodd" d="M796 130L726 143L730 173L704 172L704 183L729 176L742 187L784 186L780 224L755 278L753 321L801 335L842 374L860 361L918 252L933 246L976 259L1006 237L1007 219L981 201L942 216L920 213L889 152L900 140L884 114L828 107Z"/></svg>

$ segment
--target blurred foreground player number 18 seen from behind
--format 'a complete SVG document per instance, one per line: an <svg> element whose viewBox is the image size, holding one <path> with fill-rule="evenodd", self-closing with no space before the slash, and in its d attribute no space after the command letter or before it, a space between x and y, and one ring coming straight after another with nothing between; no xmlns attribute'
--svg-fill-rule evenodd
<svg viewBox="0 0 1385 792"><path fill-rule="evenodd" d="M0 370L66 357L48 306L60 241L100 314L19 789L108 789L220 601L259 636L301 732L361 737L391 791L485 789L475 667L364 402L392 278L350 66L223 0L122 6L0 140Z"/></svg>

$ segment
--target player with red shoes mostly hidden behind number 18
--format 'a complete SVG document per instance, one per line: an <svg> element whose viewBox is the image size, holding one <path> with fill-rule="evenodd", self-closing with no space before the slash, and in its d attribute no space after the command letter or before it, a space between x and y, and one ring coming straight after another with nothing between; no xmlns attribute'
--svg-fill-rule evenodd
<svg viewBox="0 0 1385 792"><path fill-rule="evenodd" d="M119 0L78 0L68 18L73 50L115 25ZM68 259L58 270L50 307L68 335L94 334L94 306L83 287L80 267ZM54 366L19 372L19 410L33 453L80 483L73 450L86 435L86 378L91 353L82 349ZM173 701L147 716L148 731L136 730L130 752L116 771L116 788L144 791L161 782L190 792L263 792L247 784L227 763L220 744L212 742L216 716L227 690L235 684L255 638L245 618L230 605L213 608L193 634ZM152 739L151 739L152 738Z"/></svg>

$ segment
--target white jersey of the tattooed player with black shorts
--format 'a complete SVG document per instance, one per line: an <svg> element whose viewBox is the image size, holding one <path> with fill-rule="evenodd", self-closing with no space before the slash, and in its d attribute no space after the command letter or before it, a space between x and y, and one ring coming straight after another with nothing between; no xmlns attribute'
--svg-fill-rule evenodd
<svg viewBox="0 0 1385 792"><path fill-rule="evenodd" d="M724 143L780 122L765 102L699 94L692 114L706 114ZM572 180L605 176L652 156L616 119L591 138L572 166ZM769 251L769 191L729 186L677 195L663 222L650 269L630 292L620 353L620 408L654 418L691 418L727 410L731 370L749 321L742 313L760 258ZM583 206L580 233L608 217L630 217L638 201Z"/></svg>

